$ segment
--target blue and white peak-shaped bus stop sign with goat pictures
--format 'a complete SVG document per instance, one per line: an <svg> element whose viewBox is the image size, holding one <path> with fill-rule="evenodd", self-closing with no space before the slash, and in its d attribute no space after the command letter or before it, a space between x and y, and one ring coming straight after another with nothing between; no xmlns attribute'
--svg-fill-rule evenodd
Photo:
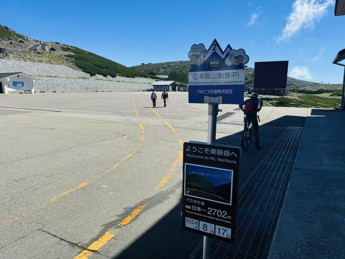
<svg viewBox="0 0 345 259"><path fill-rule="evenodd" d="M188 53L189 103L204 103L204 97L223 97L223 104L243 103L245 68L249 61L244 49L223 51L216 39L208 49L194 44Z"/></svg>

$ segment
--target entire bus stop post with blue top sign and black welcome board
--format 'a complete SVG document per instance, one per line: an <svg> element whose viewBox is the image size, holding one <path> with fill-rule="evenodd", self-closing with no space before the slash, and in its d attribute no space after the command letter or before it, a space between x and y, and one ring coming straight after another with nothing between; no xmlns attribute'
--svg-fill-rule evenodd
<svg viewBox="0 0 345 259"><path fill-rule="evenodd" d="M184 143L182 228L204 236L203 259L211 257L211 238L236 238L238 174L241 149L216 145L219 104L243 102L244 49L223 51L215 39L208 49L194 44L188 52L189 103L208 104L207 144Z"/></svg>

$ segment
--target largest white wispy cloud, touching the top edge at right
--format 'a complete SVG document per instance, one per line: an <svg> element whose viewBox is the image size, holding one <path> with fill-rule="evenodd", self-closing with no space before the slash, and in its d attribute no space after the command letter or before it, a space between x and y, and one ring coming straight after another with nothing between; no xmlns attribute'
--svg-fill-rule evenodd
<svg viewBox="0 0 345 259"><path fill-rule="evenodd" d="M315 23L327 14L327 8L331 4L334 4L334 0L296 0L292 4L292 12L277 42L289 41L302 27L306 30L314 29Z"/></svg>

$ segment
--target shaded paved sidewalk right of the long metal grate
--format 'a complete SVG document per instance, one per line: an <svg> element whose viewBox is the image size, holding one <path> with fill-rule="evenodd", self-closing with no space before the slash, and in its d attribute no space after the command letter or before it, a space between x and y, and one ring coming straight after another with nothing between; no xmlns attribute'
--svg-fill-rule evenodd
<svg viewBox="0 0 345 259"><path fill-rule="evenodd" d="M312 109L269 259L345 258L345 112Z"/></svg>

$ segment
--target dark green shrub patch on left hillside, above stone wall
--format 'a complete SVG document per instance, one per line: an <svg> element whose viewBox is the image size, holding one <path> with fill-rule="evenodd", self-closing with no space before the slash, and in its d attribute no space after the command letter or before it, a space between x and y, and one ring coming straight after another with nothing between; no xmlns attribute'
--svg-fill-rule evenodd
<svg viewBox="0 0 345 259"><path fill-rule="evenodd" d="M70 51L75 53L74 55L70 54L65 56L74 58L74 64L80 67L83 70L83 72L88 73L90 75L103 75L112 77L116 77L117 75L119 75L123 77L149 77L159 79L158 77L141 73L134 69L130 69L112 60L103 58L91 52L79 49L77 47L62 47L61 49L64 51Z"/></svg>

